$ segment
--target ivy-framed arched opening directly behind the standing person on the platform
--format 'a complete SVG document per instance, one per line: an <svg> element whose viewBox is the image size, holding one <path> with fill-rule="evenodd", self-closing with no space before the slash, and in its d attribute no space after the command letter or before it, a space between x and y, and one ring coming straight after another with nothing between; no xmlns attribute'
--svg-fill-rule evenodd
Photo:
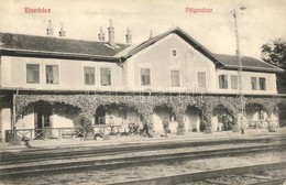
<svg viewBox="0 0 286 185"><path fill-rule="evenodd" d="M153 131L163 132L163 120L167 119L169 122L170 132L177 131L178 123L176 122L176 115L173 112L170 107L166 105L156 106L153 110L152 120Z"/></svg>

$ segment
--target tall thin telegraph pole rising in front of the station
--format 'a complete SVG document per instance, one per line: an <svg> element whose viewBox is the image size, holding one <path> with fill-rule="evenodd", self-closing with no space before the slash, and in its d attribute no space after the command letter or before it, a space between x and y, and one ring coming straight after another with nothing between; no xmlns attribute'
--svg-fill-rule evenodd
<svg viewBox="0 0 286 185"><path fill-rule="evenodd" d="M233 18L234 18L234 24L235 24L235 40L237 40L237 58L239 62L239 69L238 69L238 77L239 77L239 98L240 98L240 117L241 124L243 124L243 116L244 116L244 95L243 95L243 84L242 84L242 61L241 61L241 53L240 53L240 37L239 37L239 29L238 29L238 11L245 10L245 7L241 7L240 10L233 10L231 11ZM242 127L242 133L244 133L244 127Z"/></svg>

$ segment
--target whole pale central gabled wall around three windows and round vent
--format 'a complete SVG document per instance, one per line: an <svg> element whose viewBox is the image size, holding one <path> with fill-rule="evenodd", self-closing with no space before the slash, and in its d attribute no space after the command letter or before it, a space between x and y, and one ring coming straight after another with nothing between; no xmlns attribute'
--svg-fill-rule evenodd
<svg viewBox="0 0 286 185"><path fill-rule="evenodd" d="M177 51L177 56L172 51ZM129 67L128 87L136 90L151 88L163 91L198 91L198 72L206 72L207 89L216 87L213 63L176 34L169 34L147 48L131 56L125 63ZM151 68L151 86L141 86L140 68ZM179 70L180 87L172 87L170 70Z"/></svg>

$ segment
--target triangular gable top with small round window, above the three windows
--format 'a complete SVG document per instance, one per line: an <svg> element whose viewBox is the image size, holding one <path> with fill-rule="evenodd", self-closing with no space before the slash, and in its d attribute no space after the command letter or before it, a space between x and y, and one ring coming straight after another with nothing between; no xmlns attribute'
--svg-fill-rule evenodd
<svg viewBox="0 0 286 185"><path fill-rule="evenodd" d="M175 53L175 55L174 55ZM189 45L177 34L169 34L145 50L130 57L136 63L150 63L162 68L169 67L213 67L213 63Z"/></svg>

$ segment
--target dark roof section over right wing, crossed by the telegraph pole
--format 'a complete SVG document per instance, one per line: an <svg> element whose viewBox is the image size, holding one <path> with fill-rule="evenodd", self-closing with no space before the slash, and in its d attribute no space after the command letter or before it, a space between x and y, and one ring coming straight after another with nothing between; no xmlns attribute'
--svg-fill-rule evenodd
<svg viewBox="0 0 286 185"><path fill-rule="evenodd" d="M224 54L213 54L217 56L217 58L220 59L220 62L223 64L222 68L226 69L238 69L239 68L239 62L238 56L235 55L224 55ZM284 69L276 67L272 64L268 64L266 62L256 59L254 57L250 56L241 56L242 62L242 69L245 70L255 70L255 72L275 72L275 73L283 73Z"/></svg>

